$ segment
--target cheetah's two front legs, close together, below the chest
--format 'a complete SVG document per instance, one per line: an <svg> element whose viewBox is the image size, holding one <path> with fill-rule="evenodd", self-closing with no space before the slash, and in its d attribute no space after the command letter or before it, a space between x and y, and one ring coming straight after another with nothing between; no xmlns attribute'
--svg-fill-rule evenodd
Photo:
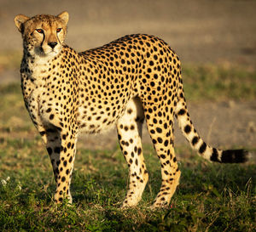
<svg viewBox="0 0 256 232"><path fill-rule="evenodd" d="M57 185L55 202L59 203L67 198L69 203L72 203L69 186L73 172L77 138L72 133L57 127L40 131L40 134L44 139L55 175Z"/></svg>

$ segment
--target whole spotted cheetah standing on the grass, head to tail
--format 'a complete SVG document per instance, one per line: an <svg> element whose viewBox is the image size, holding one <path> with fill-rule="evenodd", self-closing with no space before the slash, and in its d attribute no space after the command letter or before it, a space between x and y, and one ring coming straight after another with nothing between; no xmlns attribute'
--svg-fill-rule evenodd
<svg viewBox="0 0 256 232"><path fill-rule="evenodd" d="M102 133L116 125L120 149L129 167L122 207L134 207L148 182L143 158L145 121L160 158L161 187L153 206L167 207L181 172L173 148L173 123L191 147L208 161L247 161L247 150L218 150L206 144L193 126L183 93L177 54L158 37L127 35L77 53L68 47L69 14L18 14L23 39L21 89L33 124L44 140L56 182L54 201L67 199L78 135Z"/></svg>

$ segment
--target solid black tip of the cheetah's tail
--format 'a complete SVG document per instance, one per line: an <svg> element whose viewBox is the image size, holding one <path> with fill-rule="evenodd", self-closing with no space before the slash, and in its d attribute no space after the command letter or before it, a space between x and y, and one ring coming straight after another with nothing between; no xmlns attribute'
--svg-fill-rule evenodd
<svg viewBox="0 0 256 232"><path fill-rule="evenodd" d="M250 153L247 150L224 150L221 156L223 163L242 163L249 160Z"/></svg>

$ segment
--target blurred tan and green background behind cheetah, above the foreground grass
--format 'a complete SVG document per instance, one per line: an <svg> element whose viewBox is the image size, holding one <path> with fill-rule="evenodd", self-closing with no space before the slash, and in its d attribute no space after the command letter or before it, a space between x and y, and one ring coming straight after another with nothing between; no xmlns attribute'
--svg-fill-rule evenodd
<svg viewBox="0 0 256 232"><path fill-rule="evenodd" d="M253 0L0 0L0 137L37 134L20 93L15 15L67 10L67 44L77 51L132 33L164 39L182 60L189 111L201 135L213 145L255 147L255 9ZM114 133L80 146L111 148ZM176 137L185 143L180 133Z"/></svg>

